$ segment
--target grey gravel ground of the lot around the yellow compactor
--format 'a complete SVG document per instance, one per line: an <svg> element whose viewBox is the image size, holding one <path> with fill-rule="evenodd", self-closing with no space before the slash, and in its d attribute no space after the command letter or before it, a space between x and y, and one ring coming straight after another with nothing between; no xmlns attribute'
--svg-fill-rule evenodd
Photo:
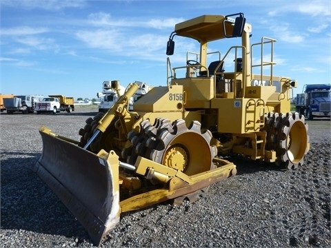
<svg viewBox="0 0 331 248"><path fill-rule="evenodd" d="M0 115L1 247L93 247L86 231L31 167L39 127L79 140L97 109L71 114ZM330 121L307 121L305 165L280 171L234 161L238 174L183 205L121 215L100 247L331 247Z"/></svg>

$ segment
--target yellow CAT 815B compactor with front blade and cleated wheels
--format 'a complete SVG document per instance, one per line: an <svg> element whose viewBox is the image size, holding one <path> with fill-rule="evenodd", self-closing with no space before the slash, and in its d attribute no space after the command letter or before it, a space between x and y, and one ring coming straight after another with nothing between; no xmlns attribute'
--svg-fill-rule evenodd
<svg viewBox="0 0 331 248"><path fill-rule="evenodd" d="M129 110L138 89L130 83L107 113L86 120L80 141L41 127L43 152L35 172L94 245L123 212L170 199L179 204L196 200L199 191L234 176L236 166L225 155L288 169L303 164L310 147L308 125L303 115L290 112L297 81L274 76L275 40L263 37L250 45L251 31L242 13L178 23L167 55L174 53L175 36L197 41L200 51L187 52L187 64L177 68L168 57L165 86L153 87ZM212 41L226 44L236 37L240 44L225 54L211 51ZM258 51L254 56L253 50ZM230 64L226 70L225 62ZM119 81L112 84L119 87Z"/></svg>

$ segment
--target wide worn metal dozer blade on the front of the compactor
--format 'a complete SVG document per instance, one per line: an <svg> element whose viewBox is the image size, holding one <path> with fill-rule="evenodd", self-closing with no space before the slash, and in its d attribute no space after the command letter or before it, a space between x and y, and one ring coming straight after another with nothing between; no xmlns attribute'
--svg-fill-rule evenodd
<svg viewBox="0 0 331 248"><path fill-rule="evenodd" d="M34 166L40 178L76 216L94 245L119 223L119 157L103 150L93 154L68 140L39 130L41 158Z"/></svg>

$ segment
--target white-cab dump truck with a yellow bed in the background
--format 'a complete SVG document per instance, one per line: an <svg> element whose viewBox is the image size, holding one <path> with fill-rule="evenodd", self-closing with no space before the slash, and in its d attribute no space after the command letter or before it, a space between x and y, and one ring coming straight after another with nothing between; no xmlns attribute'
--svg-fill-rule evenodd
<svg viewBox="0 0 331 248"><path fill-rule="evenodd" d="M74 98L63 95L49 95L41 102L36 104L37 114L52 113L57 114L61 111L71 113L74 111Z"/></svg>

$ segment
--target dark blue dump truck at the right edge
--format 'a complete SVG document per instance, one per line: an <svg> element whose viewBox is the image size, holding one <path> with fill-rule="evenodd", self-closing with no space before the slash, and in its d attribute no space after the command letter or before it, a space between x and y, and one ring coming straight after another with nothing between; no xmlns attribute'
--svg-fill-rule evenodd
<svg viewBox="0 0 331 248"><path fill-rule="evenodd" d="M297 94L296 111L304 114L308 120L312 120L314 117L330 118L330 92L330 84L303 85L302 93Z"/></svg>

